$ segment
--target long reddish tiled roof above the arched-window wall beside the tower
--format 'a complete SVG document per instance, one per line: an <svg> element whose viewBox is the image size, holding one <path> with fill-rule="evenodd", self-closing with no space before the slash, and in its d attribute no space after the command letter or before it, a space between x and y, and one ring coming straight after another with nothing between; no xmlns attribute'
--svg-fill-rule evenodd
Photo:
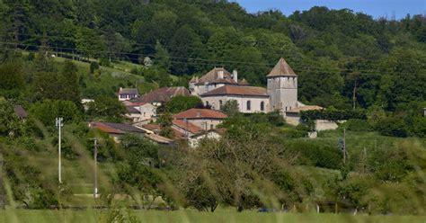
<svg viewBox="0 0 426 223"><path fill-rule="evenodd" d="M213 89L205 94L204 96L216 96L216 95L242 95L242 96L262 96L269 97L266 89L259 86L244 86L244 85L225 85Z"/></svg>

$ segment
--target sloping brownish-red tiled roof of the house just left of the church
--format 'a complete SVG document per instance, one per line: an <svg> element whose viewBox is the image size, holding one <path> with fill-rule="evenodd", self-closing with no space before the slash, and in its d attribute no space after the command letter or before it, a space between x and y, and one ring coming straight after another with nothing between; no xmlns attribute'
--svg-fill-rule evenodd
<svg viewBox="0 0 426 223"><path fill-rule="evenodd" d="M140 98L132 100L132 103L166 103L177 95L191 95L190 91L183 86L162 87Z"/></svg>

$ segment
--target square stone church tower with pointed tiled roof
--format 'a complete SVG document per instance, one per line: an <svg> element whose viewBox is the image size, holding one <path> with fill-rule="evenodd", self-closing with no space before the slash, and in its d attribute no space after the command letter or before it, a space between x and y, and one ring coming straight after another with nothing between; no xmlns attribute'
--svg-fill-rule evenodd
<svg viewBox="0 0 426 223"><path fill-rule="evenodd" d="M284 58L280 58L268 78L270 110L285 113L297 107L297 75Z"/></svg>

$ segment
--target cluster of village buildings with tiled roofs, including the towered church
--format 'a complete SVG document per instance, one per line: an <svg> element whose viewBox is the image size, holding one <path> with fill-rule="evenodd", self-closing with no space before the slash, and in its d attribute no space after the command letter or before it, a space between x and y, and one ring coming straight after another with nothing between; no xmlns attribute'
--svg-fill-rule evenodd
<svg viewBox="0 0 426 223"><path fill-rule="evenodd" d="M300 123L300 112L323 110L317 105L306 105L297 101L297 74L284 58L266 76L267 88L250 85L245 79L239 79L234 70L228 72L224 67L214 67L204 76L194 76L189 89L183 86L162 87L147 94L139 95L136 88L118 90L118 100L126 106L129 123L90 122L90 128L108 133L116 142L126 133L147 138L155 143L173 145L175 141L185 140L190 147L197 147L203 138L220 138L225 132L217 128L227 118L221 112L226 102L235 101L238 112L280 112L291 125ZM173 137L161 135L162 126L157 123L158 108L175 96L194 95L202 104L196 108L173 114ZM83 103L92 102L84 99ZM337 129L332 120L315 120L315 129ZM310 132L309 137L315 137Z"/></svg>

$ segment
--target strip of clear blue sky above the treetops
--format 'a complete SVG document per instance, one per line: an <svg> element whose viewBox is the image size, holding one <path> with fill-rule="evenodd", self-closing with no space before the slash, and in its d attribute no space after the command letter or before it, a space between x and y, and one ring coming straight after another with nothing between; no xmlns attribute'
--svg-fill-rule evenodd
<svg viewBox="0 0 426 223"><path fill-rule="evenodd" d="M249 13L279 9L288 15L296 10L304 11L313 6L327 6L332 9L349 8L354 12L399 20L410 14L426 14L426 0L235 0Z"/></svg>

